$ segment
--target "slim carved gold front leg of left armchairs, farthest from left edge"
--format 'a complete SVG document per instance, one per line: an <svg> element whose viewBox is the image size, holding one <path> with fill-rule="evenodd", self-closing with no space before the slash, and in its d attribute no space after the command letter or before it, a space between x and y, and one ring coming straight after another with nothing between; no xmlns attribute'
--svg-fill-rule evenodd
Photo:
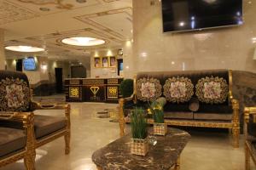
<svg viewBox="0 0 256 170"><path fill-rule="evenodd" d="M64 136L65 139L65 154L68 155L70 152L70 105L65 107L65 116L66 116L66 123L67 123L67 133Z"/></svg>

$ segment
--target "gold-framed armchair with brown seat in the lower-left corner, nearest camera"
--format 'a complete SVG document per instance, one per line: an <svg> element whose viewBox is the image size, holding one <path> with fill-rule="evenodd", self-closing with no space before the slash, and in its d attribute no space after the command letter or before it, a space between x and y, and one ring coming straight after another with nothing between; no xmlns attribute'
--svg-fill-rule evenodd
<svg viewBox="0 0 256 170"><path fill-rule="evenodd" d="M35 169L35 143L32 112L0 112L0 167L24 159L26 169ZM14 124L4 123L12 121ZM22 129L17 128L22 125Z"/></svg>

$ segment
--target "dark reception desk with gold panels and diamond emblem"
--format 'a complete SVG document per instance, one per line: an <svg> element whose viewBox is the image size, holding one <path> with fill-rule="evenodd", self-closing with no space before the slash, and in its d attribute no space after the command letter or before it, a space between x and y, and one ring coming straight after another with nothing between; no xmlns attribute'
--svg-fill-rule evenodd
<svg viewBox="0 0 256 170"><path fill-rule="evenodd" d="M123 78L67 78L66 101L117 103L122 81Z"/></svg>

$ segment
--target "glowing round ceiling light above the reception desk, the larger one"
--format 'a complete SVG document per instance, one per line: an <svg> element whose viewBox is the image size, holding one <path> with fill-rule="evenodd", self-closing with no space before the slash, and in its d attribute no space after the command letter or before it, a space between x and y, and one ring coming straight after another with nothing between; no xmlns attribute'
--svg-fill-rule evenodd
<svg viewBox="0 0 256 170"><path fill-rule="evenodd" d="M96 46L105 43L104 40L95 37L68 37L62 39L61 42L75 46Z"/></svg>

